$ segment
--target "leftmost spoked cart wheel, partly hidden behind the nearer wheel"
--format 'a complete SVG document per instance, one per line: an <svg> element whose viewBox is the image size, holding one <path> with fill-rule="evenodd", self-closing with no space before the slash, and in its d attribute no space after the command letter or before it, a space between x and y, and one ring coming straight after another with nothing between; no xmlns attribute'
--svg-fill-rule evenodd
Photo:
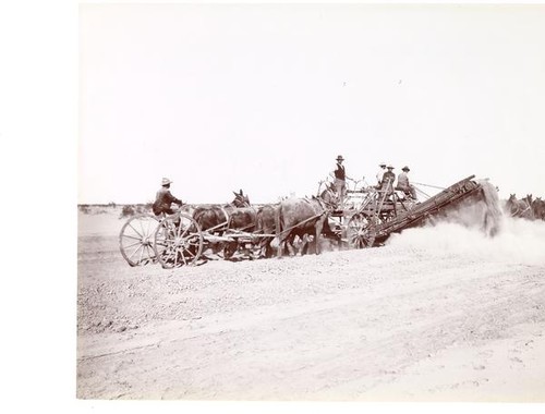
<svg viewBox="0 0 545 414"><path fill-rule="evenodd" d="M137 215L129 219L119 234L121 255L131 266L155 261L155 231L159 219L152 215Z"/></svg>

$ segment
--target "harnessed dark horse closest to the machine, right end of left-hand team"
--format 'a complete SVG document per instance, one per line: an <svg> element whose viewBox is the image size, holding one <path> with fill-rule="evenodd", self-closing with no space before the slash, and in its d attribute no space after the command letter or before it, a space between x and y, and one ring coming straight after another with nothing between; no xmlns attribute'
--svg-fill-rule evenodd
<svg viewBox="0 0 545 414"><path fill-rule="evenodd" d="M293 246L296 236L302 241L313 238L316 254L320 253L320 235L337 238L329 227L329 212L339 205L337 193L328 186L318 197L289 198L282 200L275 210L275 231L278 234L278 255L282 247ZM303 242L302 255L308 244Z"/></svg>

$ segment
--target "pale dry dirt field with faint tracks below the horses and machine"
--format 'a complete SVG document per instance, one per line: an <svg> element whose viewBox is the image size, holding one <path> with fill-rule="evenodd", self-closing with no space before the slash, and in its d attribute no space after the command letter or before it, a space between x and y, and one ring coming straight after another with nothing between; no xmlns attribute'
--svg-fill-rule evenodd
<svg viewBox="0 0 545 414"><path fill-rule="evenodd" d="M545 401L545 223L131 268L80 214L80 399Z"/></svg>

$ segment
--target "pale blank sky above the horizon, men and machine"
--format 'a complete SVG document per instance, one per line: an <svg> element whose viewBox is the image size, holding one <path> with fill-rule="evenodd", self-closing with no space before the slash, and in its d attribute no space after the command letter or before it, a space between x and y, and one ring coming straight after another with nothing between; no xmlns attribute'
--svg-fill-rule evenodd
<svg viewBox="0 0 545 414"><path fill-rule="evenodd" d="M78 203L312 195L337 155L545 196L544 5L82 4L80 57Z"/></svg>

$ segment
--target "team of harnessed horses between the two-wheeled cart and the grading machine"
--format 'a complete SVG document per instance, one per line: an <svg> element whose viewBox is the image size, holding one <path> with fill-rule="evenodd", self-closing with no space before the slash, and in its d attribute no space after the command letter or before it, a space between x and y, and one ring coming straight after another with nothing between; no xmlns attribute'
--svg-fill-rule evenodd
<svg viewBox="0 0 545 414"><path fill-rule="evenodd" d="M275 254L294 255L320 252L320 236L339 243L338 233L329 223L329 214L339 205L337 193L327 186L319 196L287 198L277 204L259 207L251 205L242 190L233 192L234 199L226 205L198 206L191 211L201 230L209 235L213 255L231 258L241 248L233 235L252 235L251 258L271 257ZM222 238L229 233L230 236ZM216 239L215 239L216 236ZM217 240L215 243L214 241Z"/></svg>

